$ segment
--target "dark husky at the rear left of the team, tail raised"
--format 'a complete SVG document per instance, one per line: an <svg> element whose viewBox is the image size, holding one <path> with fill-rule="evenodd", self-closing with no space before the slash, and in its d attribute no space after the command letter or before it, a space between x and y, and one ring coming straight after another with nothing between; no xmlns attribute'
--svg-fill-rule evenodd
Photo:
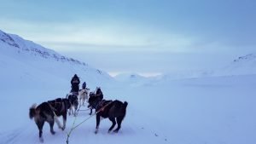
<svg viewBox="0 0 256 144"><path fill-rule="evenodd" d="M53 101L47 101L41 103L38 107L36 104L32 105L29 109L29 117L34 118L35 123L38 125L39 139L41 142L44 141L42 136L44 122L49 123L50 132L52 135L55 134L53 130L55 122L58 124L61 130L65 130L67 121L67 109L71 107L70 102L67 99L55 99ZM57 117L62 116L63 125Z"/></svg>

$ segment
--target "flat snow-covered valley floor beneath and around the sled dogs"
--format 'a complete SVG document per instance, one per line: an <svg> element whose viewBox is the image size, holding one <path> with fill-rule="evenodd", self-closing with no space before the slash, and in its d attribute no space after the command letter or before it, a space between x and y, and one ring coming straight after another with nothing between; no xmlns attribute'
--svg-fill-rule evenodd
<svg viewBox="0 0 256 144"><path fill-rule="evenodd" d="M60 84L61 85L61 84ZM111 123L102 120L95 135L96 118L81 124L70 137L70 143L227 143L256 142L256 76L195 78L137 87L103 88L105 99L128 101L127 115L118 134L108 134ZM56 85L50 89L2 89L0 143L38 143L38 128L28 118L28 108L64 97L68 89ZM86 109L86 107L82 107ZM89 117L80 111L79 124ZM67 118L67 129L55 124L51 135L44 125L44 143L66 143L73 116Z"/></svg>

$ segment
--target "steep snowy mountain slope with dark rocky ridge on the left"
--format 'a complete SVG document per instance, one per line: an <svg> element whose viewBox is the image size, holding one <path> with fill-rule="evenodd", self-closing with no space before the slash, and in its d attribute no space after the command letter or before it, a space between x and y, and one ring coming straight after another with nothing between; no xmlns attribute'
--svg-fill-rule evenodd
<svg viewBox="0 0 256 144"><path fill-rule="evenodd" d="M0 78L7 79L7 75L11 76L6 80L10 83L20 82L20 79L23 79L23 83L40 85L51 81L51 84L55 85L56 80L64 80L63 84L70 88L70 80L75 73L81 81L86 81L93 87L113 82L113 78L107 72L2 31L0 31L0 57L2 67ZM45 76L44 79L40 78L42 75ZM19 85L13 86L20 87Z"/></svg>

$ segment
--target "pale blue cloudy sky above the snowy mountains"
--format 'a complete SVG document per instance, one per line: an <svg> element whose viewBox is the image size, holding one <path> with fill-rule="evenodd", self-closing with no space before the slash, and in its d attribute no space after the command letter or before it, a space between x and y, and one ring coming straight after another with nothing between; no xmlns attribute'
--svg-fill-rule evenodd
<svg viewBox="0 0 256 144"><path fill-rule="evenodd" d="M110 74L215 69L256 52L253 0L3 0L0 29Z"/></svg>

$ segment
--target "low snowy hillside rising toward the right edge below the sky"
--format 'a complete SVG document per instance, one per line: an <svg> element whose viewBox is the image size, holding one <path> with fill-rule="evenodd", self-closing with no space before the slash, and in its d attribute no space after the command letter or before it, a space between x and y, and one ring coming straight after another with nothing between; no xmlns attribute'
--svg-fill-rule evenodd
<svg viewBox="0 0 256 144"><path fill-rule="evenodd" d="M143 77L136 73L122 73L114 77L119 82L125 82L131 85L143 85L161 83L162 81L170 81L186 78L211 78L234 75L253 75L256 74L256 55L249 54L240 56L230 62L228 66L221 66L215 70L201 71L180 71L166 72L155 77Z"/></svg>

